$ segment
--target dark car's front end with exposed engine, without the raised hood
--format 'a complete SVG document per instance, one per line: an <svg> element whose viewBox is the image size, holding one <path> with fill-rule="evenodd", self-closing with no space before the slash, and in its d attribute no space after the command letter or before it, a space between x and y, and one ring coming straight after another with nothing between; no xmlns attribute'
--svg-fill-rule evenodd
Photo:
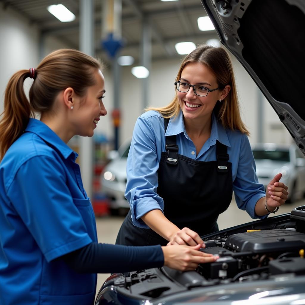
<svg viewBox="0 0 305 305"><path fill-rule="evenodd" d="M95 304L304 304L305 206L203 240L203 251L220 256L216 262L186 272L162 267L113 274Z"/></svg>

